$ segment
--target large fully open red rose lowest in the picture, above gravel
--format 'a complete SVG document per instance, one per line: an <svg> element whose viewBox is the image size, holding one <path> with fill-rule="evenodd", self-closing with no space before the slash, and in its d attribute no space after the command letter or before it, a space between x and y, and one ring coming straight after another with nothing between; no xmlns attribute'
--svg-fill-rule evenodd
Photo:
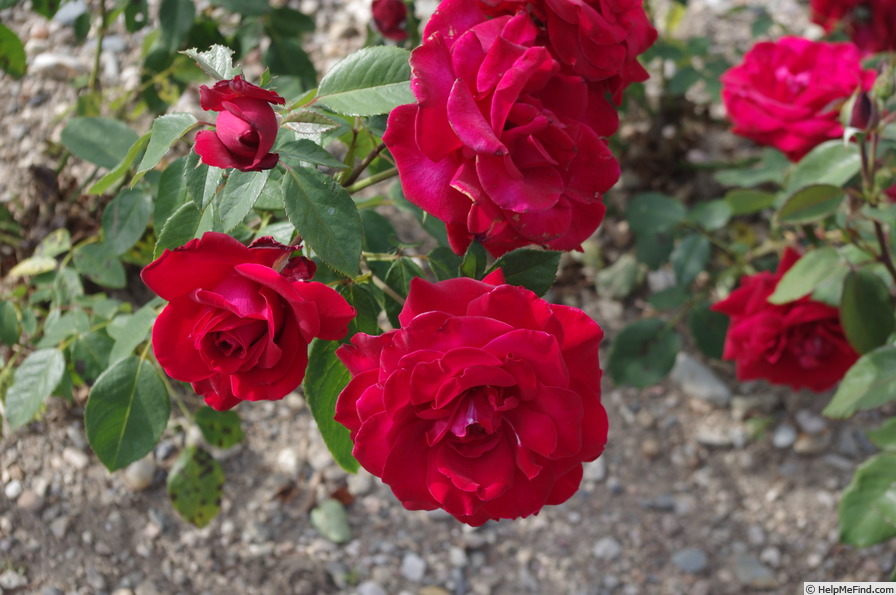
<svg viewBox="0 0 896 595"><path fill-rule="evenodd" d="M336 420L361 465L406 508L474 526L566 501L607 438L600 327L500 271L415 278L399 320L336 352L352 374Z"/></svg>

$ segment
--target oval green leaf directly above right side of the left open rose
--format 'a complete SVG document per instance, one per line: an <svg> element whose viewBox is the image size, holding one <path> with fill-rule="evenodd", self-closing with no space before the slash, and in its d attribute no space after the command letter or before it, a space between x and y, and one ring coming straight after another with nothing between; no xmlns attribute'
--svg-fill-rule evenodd
<svg viewBox="0 0 896 595"><path fill-rule="evenodd" d="M321 260L347 277L361 259L361 217L345 189L321 172L294 168L283 176L286 216Z"/></svg>

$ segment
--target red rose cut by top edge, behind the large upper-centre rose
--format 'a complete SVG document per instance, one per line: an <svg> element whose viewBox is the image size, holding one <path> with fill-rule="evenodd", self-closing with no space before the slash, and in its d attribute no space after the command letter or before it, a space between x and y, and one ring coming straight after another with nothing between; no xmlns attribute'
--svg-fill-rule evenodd
<svg viewBox="0 0 896 595"><path fill-rule="evenodd" d="M442 5L453 2L445 0ZM648 78L637 57L653 45L657 32L644 12L642 0L479 0L479 3L490 16L532 14L543 27L539 43L546 45L576 74L589 81L601 81L616 103L621 102L625 87Z"/></svg>

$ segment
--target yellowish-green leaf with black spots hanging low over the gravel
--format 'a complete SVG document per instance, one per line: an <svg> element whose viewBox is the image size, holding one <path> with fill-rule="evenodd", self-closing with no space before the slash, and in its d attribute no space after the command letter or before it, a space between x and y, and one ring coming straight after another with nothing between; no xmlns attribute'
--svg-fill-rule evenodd
<svg viewBox="0 0 896 595"><path fill-rule="evenodd" d="M184 449L168 472L168 498L189 523L202 528L221 511L224 469L204 449Z"/></svg>

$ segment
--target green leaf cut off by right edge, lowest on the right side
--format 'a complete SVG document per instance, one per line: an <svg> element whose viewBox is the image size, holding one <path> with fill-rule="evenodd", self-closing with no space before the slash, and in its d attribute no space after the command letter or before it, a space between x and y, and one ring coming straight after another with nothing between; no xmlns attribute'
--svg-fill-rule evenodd
<svg viewBox="0 0 896 595"><path fill-rule="evenodd" d="M840 499L840 541L867 547L896 537L896 453L871 457Z"/></svg>

